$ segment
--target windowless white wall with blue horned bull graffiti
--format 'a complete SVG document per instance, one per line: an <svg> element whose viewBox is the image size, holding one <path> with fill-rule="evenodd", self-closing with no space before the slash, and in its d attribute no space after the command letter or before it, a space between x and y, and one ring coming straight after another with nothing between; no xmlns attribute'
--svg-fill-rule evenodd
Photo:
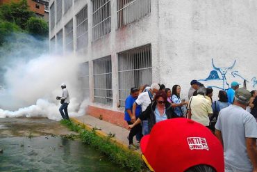
<svg viewBox="0 0 257 172"><path fill-rule="evenodd" d="M249 91L257 88L256 1L167 0L159 13L161 83L180 84L183 97L191 79L224 89L246 79Z"/></svg>

